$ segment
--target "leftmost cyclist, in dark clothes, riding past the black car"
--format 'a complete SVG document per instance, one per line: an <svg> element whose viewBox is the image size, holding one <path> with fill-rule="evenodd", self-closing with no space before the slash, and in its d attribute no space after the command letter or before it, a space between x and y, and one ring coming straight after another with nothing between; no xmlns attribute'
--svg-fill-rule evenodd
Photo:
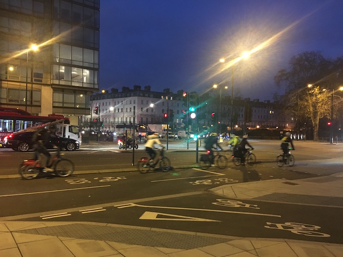
<svg viewBox="0 0 343 257"><path fill-rule="evenodd" d="M49 125L49 130L47 130L45 127L39 127L37 131L33 134L33 159L38 160L39 155L43 154L46 156L46 163L45 168L43 169L43 172L49 172L53 171L49 168L49 162L50 162L50 153L46 149L47 145L50 143L50 137L56 137L56 125L51 124Z"/></svg>

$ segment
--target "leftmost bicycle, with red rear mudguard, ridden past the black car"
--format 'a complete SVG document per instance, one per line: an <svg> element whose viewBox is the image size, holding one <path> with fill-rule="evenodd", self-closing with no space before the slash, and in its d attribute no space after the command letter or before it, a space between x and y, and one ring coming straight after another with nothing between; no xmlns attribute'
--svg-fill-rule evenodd
<svg viewBox="0 0 343 257"><path fill-rule="evenodd" d="M74 163L71 160L68 160L61 156L60 149L56 148L56 155L53 156L50 167L59 177L67 177L73 174L74 172ZM19 167L19 174L24 179L33 179L39 174L44 173L44 167L42 167L41 158L38 160L24 160Z"/></svg>

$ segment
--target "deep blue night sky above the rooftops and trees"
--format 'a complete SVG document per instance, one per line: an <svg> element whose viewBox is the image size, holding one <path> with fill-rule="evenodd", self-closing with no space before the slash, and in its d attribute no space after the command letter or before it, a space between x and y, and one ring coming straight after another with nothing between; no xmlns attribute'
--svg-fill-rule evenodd
<svg viewBox="0 0 343 257"><path fill-rule="evenodd" d="M230 95L229 61L250 51L234 64L234 95L273 100L284 93L274 76L292 56L343 56L341 0L102 0L100 22L100 89L219 84Z"/></svg>

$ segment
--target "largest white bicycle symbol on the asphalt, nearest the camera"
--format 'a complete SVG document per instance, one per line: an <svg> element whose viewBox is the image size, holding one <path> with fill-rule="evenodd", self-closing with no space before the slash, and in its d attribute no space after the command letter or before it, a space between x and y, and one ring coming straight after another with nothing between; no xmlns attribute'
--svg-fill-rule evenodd
<svg viewBox="0 0 343 257"><path fill-rule="evenodd" d="M315 226L315 225L294 223L294 222L285 222L284 224L267 222L267 225L269 226L264 226L264 227L271 228L271 229L287 230L298 235L330 237L330 235L328 234L317 232L316 230L320 229L320 227Z"/></svg>

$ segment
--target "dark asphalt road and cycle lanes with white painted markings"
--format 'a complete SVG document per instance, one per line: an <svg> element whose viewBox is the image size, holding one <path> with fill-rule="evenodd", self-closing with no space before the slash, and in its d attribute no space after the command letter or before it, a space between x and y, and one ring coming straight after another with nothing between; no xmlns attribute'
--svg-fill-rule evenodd
<svg viewBox="0 0 343 257"><path fill-rule="evenodd" d="M34 180L0 179L0 204L5 207L0 216L23 221L92 221L341 244L341 227L333 222L340 220L341 206L239 200L208 192L214 187L233 183L275 178L296 180L340 172L341 164L335 165L332 161L339 156L339 148L329 152L312 146L296 145L297 166L292 168L278 168L272 161L275 142L255 142L257 151L254 152L263 161L254 166L235 167L229 163L224 170L184 168L167 173L127 171L75 174L67 178L47 175ZM168 156L172 163L195 159L194 152L171 151ZM7 157L9 160L12 156L20 159L25 155L2 151L1 158L4 153L11 156ZM137 151L136 154L138 157L145 153ZM91 165L89 171L93 167L97 170L119 167L119 162L130 163L132 160L129 151L102 148L84 149L67 153L67 156L75 161L76 167L87 167L84 162ZM113 164L114 161L118 163ZM309 169L311 162L318 162L317 168ZM327 166L330 168L323 169ZM295 223L314 227L299 232ZM309 229L312 230L309 232Z"/></svg>

